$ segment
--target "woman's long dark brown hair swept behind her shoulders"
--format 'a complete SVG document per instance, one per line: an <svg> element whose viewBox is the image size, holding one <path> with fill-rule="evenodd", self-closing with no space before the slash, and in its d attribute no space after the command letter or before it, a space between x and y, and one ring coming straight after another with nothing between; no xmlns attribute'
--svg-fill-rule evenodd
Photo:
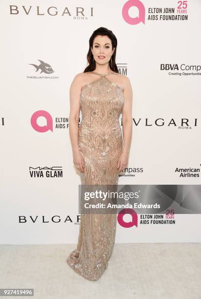
<svg viewBox="0 0 201 299"><path fill-rule="evenodd" d="M110 59L109 66L115 73L118 73L118 67L117 67L117 64L115 62L116 51L117 51L117 38L111 30L108 30L105 27L100 27L100 28L96 29L93 32L90 39L89 39L89 51L88 51L87 56L86 56L87 62L88 62L89 65L87 65L87 67L84 69L84 73L85 72L91 72L91 71L95 70L95 68L96 68L96 62L94 61L94 56L92 54L91 47L93 48L94 39L97 35L107 35L108 38L111 40L112 49L115 48L115 50L114 50L114 52L112 54L112 57L111 57L112 58L112 63L111 63L111 59Z"/></svg>

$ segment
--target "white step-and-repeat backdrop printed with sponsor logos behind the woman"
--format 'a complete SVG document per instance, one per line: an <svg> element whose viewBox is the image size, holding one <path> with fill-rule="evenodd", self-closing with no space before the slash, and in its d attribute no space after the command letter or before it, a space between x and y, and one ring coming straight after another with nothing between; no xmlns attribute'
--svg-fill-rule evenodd
<svg viewBox="0 0 201 299"><path fill-rule="evenodd" d="M133 88L119 184L165 202L161 213L118 215L116 242L201 242L200 13L200 0L1 1L2 244L78 241L69 87L101 26Z"/></svg>

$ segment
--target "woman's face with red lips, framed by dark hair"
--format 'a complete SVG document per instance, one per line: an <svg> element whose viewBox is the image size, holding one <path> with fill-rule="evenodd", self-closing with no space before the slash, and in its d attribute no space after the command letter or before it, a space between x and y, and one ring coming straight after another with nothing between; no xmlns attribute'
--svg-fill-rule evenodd
<svg viewBox="0 0 201 299"><path fill-rule="evenodd" d="M97 35L94 39L93 48L91 48L94 60L98 64L108 63L114 50L115 49L112 49L111 40L107 35ZM103 58L101 56L103 56Z"/></svg>

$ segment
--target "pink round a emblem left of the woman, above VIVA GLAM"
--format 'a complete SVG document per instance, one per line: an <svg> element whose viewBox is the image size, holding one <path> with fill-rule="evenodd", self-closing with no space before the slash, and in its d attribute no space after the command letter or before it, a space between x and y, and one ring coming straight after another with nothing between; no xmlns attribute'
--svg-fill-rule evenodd
<svg viewBox="0 0 201 299"><path fill-rule="evenodd" d="M39 126L38 125L37 120L40 116L42 116L46 119L46 126ZM49 130L53 132L52 116L49 114L49 112L47 112L45 110L38 110L31 117L31 126L37 132L40 132L40 133L44 133L44 132L47 132Z"/></svg>

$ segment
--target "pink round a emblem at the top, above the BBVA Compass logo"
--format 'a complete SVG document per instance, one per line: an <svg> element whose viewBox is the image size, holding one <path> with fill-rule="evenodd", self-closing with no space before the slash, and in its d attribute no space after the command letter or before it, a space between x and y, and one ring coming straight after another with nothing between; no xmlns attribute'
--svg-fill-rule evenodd
<svg viewBox="0 0 201 299"><path fill-rule="evenodd" d="M139 9L139 17L132 18L129 16L128 11L131 7L137 7ZM145 8L140 0L128 0L122 8L122 17L124 21L131 25L137 25L140 22L145 23Z"/></svg>

